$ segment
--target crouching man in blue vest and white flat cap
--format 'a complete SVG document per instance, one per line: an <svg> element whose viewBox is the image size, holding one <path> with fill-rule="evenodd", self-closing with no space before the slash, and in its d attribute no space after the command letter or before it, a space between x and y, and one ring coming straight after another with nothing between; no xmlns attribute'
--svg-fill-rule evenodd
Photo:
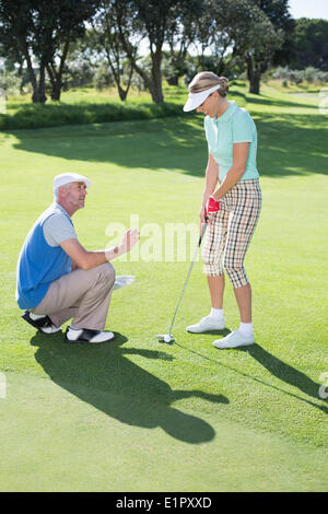
<svg viewBox="0 0 328 514"><path fill-rule="evenodd" d="M103 331L115 282L110 260L139 240L128 230L114 248L87 252L79 243L71 217L84 207L90 180L75 173L54 179L55 201L36 220L17 262L16 301L23 319L43 334L55 334L68 319L67 342L105 342Z"/></svg>

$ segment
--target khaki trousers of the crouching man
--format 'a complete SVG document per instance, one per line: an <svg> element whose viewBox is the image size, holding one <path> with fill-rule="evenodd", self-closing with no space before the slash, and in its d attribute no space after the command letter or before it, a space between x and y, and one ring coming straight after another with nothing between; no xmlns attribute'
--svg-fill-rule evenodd
<svg viewBox="0 0 328 514"><path fill-rule="evenodd" d="M56 327L72 319L74 328L102 330L115 282L115 269L109 262L95 268L75 269L51 282L46 296L31 309L47 314Z"/></svg>

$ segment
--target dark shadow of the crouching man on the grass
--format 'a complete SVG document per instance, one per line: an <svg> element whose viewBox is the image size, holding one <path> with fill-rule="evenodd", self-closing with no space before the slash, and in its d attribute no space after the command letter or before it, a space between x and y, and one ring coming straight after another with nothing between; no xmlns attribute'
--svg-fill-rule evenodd
<svg viewBox="0 0 328 514"><path fill-rule="evenodd" d="M229 399L198 389L172 389L128 358L172 361L172 355L124 348L127 338L118 332L115 336L114 341L92 346L65 343L62 334L36 334L31 344L38 347L35 359L51 381L121 423L145 429L161 427L171 436L190 444L211 441L215 432L209 423L172 404L191 397L215 404L229 404Z"/></svg>

